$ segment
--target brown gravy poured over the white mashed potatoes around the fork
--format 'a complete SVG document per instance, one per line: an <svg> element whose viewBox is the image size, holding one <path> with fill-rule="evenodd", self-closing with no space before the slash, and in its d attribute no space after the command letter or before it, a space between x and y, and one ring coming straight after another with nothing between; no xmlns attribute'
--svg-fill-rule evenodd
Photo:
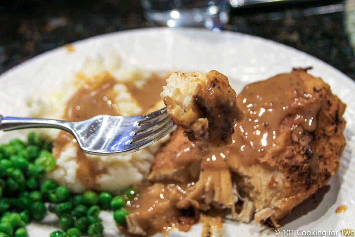
<svg viewBox="0 0 355 237"><path fill-rule="evenodd" d="M81 79L85 83L67 102L63 119L81 121L99 114L120 115L117 104L114 103L116 92L113 90L114 85L118 84L118 82L112 75L104 72L90 79ZM127 86L132 97L141 106L144 114L160 100L159 93L165 84L165 78L153 74L139 88L131 82L123 84ZM144 98L146 98L145 101ZM53 147L54 156L58 158L62 149L68 144L74 145L77 149L78 177L87 188L97 189L96 177L104 173L105 170L99 169L97 162L92 158L88 158L80 150L71 134L65 131L59 133Z"/></svg>

